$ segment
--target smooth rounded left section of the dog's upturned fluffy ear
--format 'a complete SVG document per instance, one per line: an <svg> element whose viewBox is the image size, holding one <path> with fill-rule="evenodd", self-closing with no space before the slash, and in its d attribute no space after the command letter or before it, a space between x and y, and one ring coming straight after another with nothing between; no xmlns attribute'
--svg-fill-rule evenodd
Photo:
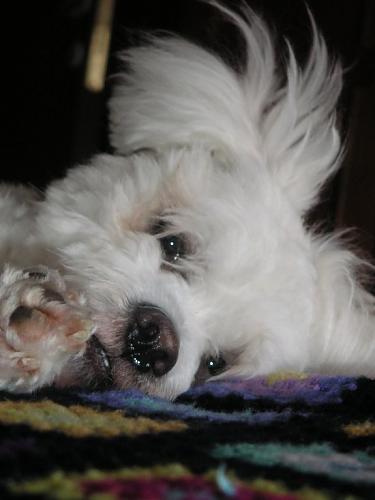
<svg viewBox="0 0 375 500"><path fill-rule="evenodd" d="M122 54L125 71L109 101L116 152L195 143L213 150L235 148L243 130L243 103L232 70L187 40L149 42Z"/></svg>

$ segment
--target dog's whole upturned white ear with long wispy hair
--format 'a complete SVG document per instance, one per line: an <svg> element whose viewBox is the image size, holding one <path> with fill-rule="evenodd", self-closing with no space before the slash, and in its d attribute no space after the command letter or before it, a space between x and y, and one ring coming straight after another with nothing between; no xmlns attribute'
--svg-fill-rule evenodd
<svg viewBox="0 0 375 500"><path fill-rule="evenodd" d="M341 67L331 63L314 21L303 69L289 47L280 71L265 23L216 5L242 33L247 63L236 72L217 55L178 37L151 38L124 55L126 71L109 103L114 149L163 149L194 143L266 168L300 213L335 171L340 140L335 107Z"/></svg>

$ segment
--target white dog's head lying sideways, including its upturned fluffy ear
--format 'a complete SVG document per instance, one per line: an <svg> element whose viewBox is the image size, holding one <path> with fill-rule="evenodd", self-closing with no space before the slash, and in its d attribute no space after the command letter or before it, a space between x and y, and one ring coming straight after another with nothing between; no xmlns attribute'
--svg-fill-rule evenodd
<svg viewBox="0 0 375 500"><path fill-rule="evenodd" d="M174 38L126 55L111 101L119 153L78 167L40 218L98 325L82 383L175 397L195 380L305 368L316 315L303 216L334 171L341 79L314 30L280 76L265 25L236 74Z"/></svg>

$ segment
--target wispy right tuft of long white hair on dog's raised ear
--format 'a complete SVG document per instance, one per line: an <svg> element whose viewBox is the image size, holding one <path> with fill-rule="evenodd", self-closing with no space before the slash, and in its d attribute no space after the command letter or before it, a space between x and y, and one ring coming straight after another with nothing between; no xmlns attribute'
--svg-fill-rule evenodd
<svg viewBox="0 0 375 500"><path fill-rule="evenodd" d="M270 171L301 213L314 205L341 159L335 111L342 69L330 61L313 20L311 24L313 44L307 63L298 68L289 46L286 83L263 122Z"/></svg>

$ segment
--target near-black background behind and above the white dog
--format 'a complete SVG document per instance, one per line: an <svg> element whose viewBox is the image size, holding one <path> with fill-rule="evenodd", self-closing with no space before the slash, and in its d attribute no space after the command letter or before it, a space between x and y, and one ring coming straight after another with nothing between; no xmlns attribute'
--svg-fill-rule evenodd
<svg viewBox="0 0 375 500"><path fill-rule="evenodd" d="M226 3L240 5L238 0ZM248 3L291 40L302 62L310 41L305 2ZM358 244L375 255L375 2L307 3L331 51L347 68L340 103L346 159L311 220L322 220L327 228L357 227ZM136 42L139 30L172 30L228 58L238 54L235 33L202 2L117 0L115 5L109 75L117 69L115 54ZM15 1L6 9L1 180L43 189L70 166L110 150L105 107L110 79L100 93L83 85L97 7L94 0L35 0Z"/></svg>

